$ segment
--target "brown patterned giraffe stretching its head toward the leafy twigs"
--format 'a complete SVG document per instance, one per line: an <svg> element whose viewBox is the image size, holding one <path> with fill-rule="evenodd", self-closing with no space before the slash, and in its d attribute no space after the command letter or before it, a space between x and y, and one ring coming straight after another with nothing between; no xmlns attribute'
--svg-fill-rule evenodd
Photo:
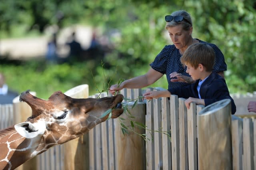
<svg viewBox="0 0 256 170"><path fill-rule="evenodd" d="M0 131L0 170L12 170L45 152L50 147L82 136L108 119L103 113L112 110L111 118L120 116L123 96L100 99L74 99L61 91L48 100L21 93L20 101L32 108L32 116ZM102 117L102 115L104 117Z"/></svg>

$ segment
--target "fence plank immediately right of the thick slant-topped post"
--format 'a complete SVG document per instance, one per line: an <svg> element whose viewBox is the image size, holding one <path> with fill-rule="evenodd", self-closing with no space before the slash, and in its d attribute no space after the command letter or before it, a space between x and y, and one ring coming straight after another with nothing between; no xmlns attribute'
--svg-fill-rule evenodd
<svg viewBox="0 0 256 170"><path fill-rule="evenodd" d="M242 170L242 124L243 120L236 116L232 116L231 122L231 136L232 136L232 156L233 156L233 170ZM254 145L255 146L255 145Z"/></svg>

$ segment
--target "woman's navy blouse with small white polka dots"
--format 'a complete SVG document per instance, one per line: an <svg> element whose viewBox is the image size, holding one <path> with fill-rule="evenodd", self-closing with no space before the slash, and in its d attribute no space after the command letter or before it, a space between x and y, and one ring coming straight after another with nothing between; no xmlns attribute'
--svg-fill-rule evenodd
<svg viewBox="0 0 256 170"><path fill-rule="evenodd" d="M213 71L217 73L220 71L226 71L227 65L225 63L224 55L220 51L220 49L215 44L204 42L202 40L198 41L200 43L206 43L214 49L215 65ZM186 73L186 67L184 68L182 66L182 63L180 62L181 56L182 55L180 54L179 50L174 45L166 45L164 49L162 49L162 51L156 56L155 60L150 64L152 69L162 74L166 74L168 89L188 85L187 83L170 81L170 73L173 73L175 71L177 73L181 73L182 75L189 76L189 74Z"/></svg>

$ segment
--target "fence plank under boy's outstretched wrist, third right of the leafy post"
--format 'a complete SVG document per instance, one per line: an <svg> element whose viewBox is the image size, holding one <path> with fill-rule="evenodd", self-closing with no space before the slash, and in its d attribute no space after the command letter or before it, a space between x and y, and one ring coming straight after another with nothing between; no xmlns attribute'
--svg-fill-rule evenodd
<svg viewBox="0 0 256 170"><path fill-rule="evenodd" d="M171 141L170 135L170 102L168 98L162 97L162 150L163 150L163 170L170 170L172 167Z"/></svg>

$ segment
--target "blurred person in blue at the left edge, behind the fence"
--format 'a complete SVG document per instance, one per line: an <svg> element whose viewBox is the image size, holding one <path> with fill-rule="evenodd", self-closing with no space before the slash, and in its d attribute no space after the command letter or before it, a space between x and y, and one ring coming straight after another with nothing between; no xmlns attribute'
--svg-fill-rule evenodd
<svg viewBox="0 0 256 170"><path fill-rule="evenodd" d="M12 104L12 100L19 94L15 91L8 89L5 83L5 77L0 73L0 104Z"/></svg>

